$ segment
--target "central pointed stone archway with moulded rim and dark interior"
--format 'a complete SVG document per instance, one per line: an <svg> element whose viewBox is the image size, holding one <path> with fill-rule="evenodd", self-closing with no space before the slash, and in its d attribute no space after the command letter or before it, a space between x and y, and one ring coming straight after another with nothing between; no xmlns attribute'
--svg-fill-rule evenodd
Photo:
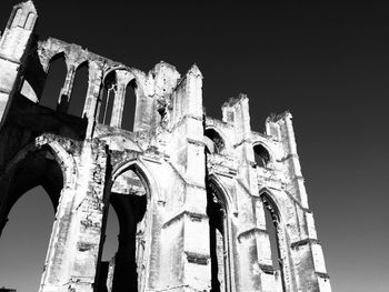
<svg viewBox="0 0 389 292"><path fill-rule="evenodd" d="M117 168L107 188L102 232L106 232L109 213L114 211L119 223L118 251L110 261L99 260L99 292L143 291L147 285L153 188L140 164L132 161ZM100 259L102 251L103 246L100 248Z"/></svg>

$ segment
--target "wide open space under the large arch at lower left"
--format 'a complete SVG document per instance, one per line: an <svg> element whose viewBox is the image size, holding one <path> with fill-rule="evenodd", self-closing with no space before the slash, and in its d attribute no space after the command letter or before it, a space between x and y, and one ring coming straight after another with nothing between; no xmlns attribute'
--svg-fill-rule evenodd
<svg viewBox="0 0 389 292"><path fill-rule="evenodd" d="M61 168L49 151L28 153L18 163L0 194L2 284L38 290L62 188Z"/></svg>

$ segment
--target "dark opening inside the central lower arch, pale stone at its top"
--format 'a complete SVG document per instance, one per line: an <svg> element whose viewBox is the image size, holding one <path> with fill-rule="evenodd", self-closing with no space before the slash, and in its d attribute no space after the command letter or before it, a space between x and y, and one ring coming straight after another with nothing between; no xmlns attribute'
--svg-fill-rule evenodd
<svg viewBox="0 0 389 292"><path fill-rule="evenodd" d="M98 291L142 291L147 189L133 170L116 179L109 202L119 222L118 249L113 258L100 262L98 282L101 290ZM108 213L112 213L112 210Z"/></svg>

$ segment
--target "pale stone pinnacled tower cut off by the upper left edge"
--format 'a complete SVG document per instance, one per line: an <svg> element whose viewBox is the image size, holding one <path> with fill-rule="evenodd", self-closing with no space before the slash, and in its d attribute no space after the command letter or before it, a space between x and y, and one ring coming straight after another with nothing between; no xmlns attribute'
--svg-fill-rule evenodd
<svg viewBox="0 0 389 292"><path fill-rule="evenodd" d="M32 1L13 7L0 39L0 127L22 82L38 14Z"/></svg>

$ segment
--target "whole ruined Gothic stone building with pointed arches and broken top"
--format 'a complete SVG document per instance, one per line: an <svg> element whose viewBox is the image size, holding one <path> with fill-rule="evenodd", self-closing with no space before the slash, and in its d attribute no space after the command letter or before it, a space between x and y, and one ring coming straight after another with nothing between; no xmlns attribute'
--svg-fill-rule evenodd
<svg viewBox="0 0 389 292"><path fill-rule="evenodd" d="M16 6L0 40L0 233L16 201L42 185L56 220L39 291L331 291L289 112L252 131L240 94L221 120L207 117L196 66L142 72L40 40L37 18L32 1ZM58 58L68 72L51 109L41 95ZM77 115L81 66L89 82ZM110 205L119 248L102 262Z"/></svg>

